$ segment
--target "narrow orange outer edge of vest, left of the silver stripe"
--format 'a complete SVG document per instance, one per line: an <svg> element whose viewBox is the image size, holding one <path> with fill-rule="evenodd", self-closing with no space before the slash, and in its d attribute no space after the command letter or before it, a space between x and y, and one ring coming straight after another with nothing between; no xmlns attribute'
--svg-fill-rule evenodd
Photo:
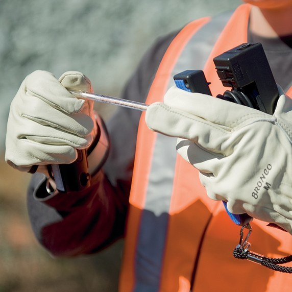
<svg viewBox="0 0 292 292"><path fill-rule="evenodd" d="M209 18L199 19L190 22L171 43L161 64L156 73L155 80L152 83L148 94L147 103L161 100L167 88L167 83L171 77L171 70L175 65L181 50L189 40L189 38L196 33L196 31L203 26ZM135 154L135 164L133 172L133 183L130 194L130 211L128 216L127 234L125 239L125 248L123 255L123 263L120 274L120 292L132 291L134 287L134 256L135 246L137 241L137 233L139 228L139 220L141 211L145 203L145 195L148 185L148 176L151 167L151 157L154 150L154 144L157 134L148 129L144 122L144 113L142 113L137 138L137 147Z"/></svg>

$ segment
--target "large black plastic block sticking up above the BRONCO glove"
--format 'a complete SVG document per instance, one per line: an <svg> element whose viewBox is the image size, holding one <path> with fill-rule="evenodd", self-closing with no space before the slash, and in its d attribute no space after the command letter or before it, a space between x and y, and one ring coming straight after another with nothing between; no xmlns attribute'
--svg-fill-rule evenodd
<svg viewBox="0 0 292 292"><path fill-rule="evenodd" d="M261 43L238 45L213 61L225 87L245 93L254 108L274 113L279 93Z"/></svg>

